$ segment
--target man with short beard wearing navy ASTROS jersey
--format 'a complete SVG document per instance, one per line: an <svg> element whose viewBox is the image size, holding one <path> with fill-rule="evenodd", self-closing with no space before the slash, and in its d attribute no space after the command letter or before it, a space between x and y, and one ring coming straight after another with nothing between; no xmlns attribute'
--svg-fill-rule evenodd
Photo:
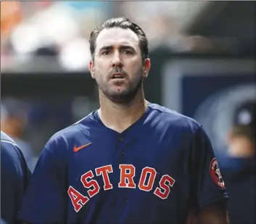
<svg viewBox="0 0 256 224"><path fill-rule="evenodd" d="M90 49L100 108L47 142L22 220L185 223L194 210L201 223L228 223L227 194L205 131L144 99L150 69L144 31L110 19L92 31Z"/></svg>

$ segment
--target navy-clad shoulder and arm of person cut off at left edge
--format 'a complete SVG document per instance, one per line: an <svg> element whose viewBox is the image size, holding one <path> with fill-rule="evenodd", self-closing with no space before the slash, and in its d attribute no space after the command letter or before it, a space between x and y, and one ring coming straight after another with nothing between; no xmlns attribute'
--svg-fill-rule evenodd
<svg viewBox="0 0 256 224"><path fill-rule="evenodd" d="M19 147L1 131L1 223L17 223L30 170Z"/></svg>

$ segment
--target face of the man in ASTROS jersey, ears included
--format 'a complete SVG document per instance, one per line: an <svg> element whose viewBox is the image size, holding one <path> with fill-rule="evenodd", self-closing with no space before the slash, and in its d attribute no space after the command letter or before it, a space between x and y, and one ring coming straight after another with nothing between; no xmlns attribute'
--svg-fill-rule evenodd
<svg viewBox="0 0 256 224"><path fill-rule="evenodd" d="M130 29L108 28L96 39L94 62L90 62L89 68L99 91L116 103L126 103L141 88L150 61L142 62L136 33Z"/></svg>

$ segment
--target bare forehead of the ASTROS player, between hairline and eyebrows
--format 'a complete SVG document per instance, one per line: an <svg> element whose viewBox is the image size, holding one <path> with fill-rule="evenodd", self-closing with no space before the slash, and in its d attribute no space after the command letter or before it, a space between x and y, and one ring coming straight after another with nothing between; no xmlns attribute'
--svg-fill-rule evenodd
<svg viewBox="0 0 256 224"><path fill-rule="evenodd" d="M130 29L107 28L102 30L96 39L96 49L101 49L103 46L120 45L131 45L135 49L139 48L139 38Z"/></svg>

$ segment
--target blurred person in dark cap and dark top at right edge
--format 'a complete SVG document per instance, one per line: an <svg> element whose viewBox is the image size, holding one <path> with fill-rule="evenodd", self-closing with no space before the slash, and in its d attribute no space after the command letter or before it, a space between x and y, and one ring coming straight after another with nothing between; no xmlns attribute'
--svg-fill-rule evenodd
<svg viewBox="0 0 256 224"><path fill-rule="evenodd" d="M230 196L231 224L256 223L255 121L256 101L244 102L236 109L228 133L228 159L221 167Z"/></svg>

